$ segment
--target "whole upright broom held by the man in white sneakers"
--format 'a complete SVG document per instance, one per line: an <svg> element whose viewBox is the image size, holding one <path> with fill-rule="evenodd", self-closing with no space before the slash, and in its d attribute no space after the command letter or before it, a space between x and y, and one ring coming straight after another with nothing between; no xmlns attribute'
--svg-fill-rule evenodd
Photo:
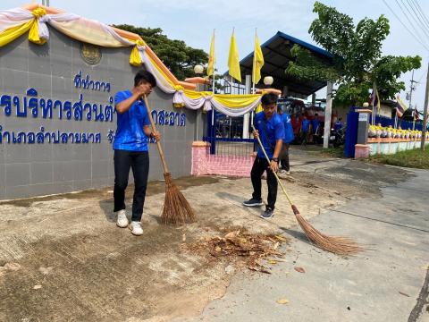
<svg viewBox="0 0 429 322"><path fill-rule="evenodd" d="M152 131L156 131L154 119L150 111L149 104L147 103L147 97L144 96L147 115L149 116L150 125L152 126ZM172 174L168 171L167 163L165 162L163 148L161 148L161 143L156 141L156 146L158 147L159 156L164 167L164 179L165 179L165 199L163 214L161 219L164 224L173 224L181 225L186 222L192 223L195 222L195 213L192 208L190 208L189 202L181 191L176 187L172 182Z"/></svg>

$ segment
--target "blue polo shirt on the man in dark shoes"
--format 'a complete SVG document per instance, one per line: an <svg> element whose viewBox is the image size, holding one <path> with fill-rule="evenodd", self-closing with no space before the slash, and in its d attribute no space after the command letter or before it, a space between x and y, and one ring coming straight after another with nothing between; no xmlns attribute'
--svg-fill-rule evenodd
<svg viewBox="0 0 429 322"><path fill-rule="evenodd" d="M265 120L265 113L259 112L255 115L253 123L257 131L259 131L259 139L261 139L266 154L270 159L273 158L273 148L275 148L275 142L277 140L283 140L284 137L282 118L279 114L274 113L269 120ZM262 152L260 147L257 148L257 157L265 159L264 152Z"/></svg>

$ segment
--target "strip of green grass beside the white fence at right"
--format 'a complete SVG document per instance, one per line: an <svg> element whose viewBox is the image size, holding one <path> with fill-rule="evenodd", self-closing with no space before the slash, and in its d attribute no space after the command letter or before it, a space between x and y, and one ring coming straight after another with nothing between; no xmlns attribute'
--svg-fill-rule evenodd
<svg viewBox="0 0 429 322"><path fill-rule="evenodd" d="M400 151L393 155L376 155L369 157L369 161L381 163L383 165L397 165L403 167L429 169L429 147L422 151L415 148L407 151Z"/></svg>

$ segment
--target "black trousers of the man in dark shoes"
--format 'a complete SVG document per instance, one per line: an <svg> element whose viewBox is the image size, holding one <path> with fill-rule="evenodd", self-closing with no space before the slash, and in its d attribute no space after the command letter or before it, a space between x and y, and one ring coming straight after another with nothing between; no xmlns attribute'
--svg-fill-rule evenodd
<svg viewBox="0 0 429 322"><path fill-rule="evenodd" d="M274 209L275 200L277 199L277 180L271 170L268 161L265 158L255 158L255 162L252 166L252 171L250 172L250 177L252 179L253 185L253 199L262 199L261 189L262 189L262 180L261 175L266 171L266 184L268 185L268 205L267 208Z"/></svg>

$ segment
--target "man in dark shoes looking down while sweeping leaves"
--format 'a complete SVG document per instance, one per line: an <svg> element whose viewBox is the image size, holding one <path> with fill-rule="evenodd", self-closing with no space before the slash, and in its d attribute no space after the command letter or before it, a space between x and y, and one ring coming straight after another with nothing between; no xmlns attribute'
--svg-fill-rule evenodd
<svg viewBox="0 0 429 322"><path fill-rule="evenodd" d="M254 125L256 131L253 132L253 136L261 140L265 152L270 158L270 162L268 163L266 160L262 149L260 147L257 148L257 157L250 173L253 186L252 199L244 201L243 205L248 207L260 207L264 205L261 196L261 176L266 171L268 203L261 217L271 218L273 216L275 199L277 199L278 184L273 171L279 170L279 154L282 150L284 127L280 115L276 113L277 95L272 93L263 95L261 97L261 104L263 112L255 115Z"/></svg>

